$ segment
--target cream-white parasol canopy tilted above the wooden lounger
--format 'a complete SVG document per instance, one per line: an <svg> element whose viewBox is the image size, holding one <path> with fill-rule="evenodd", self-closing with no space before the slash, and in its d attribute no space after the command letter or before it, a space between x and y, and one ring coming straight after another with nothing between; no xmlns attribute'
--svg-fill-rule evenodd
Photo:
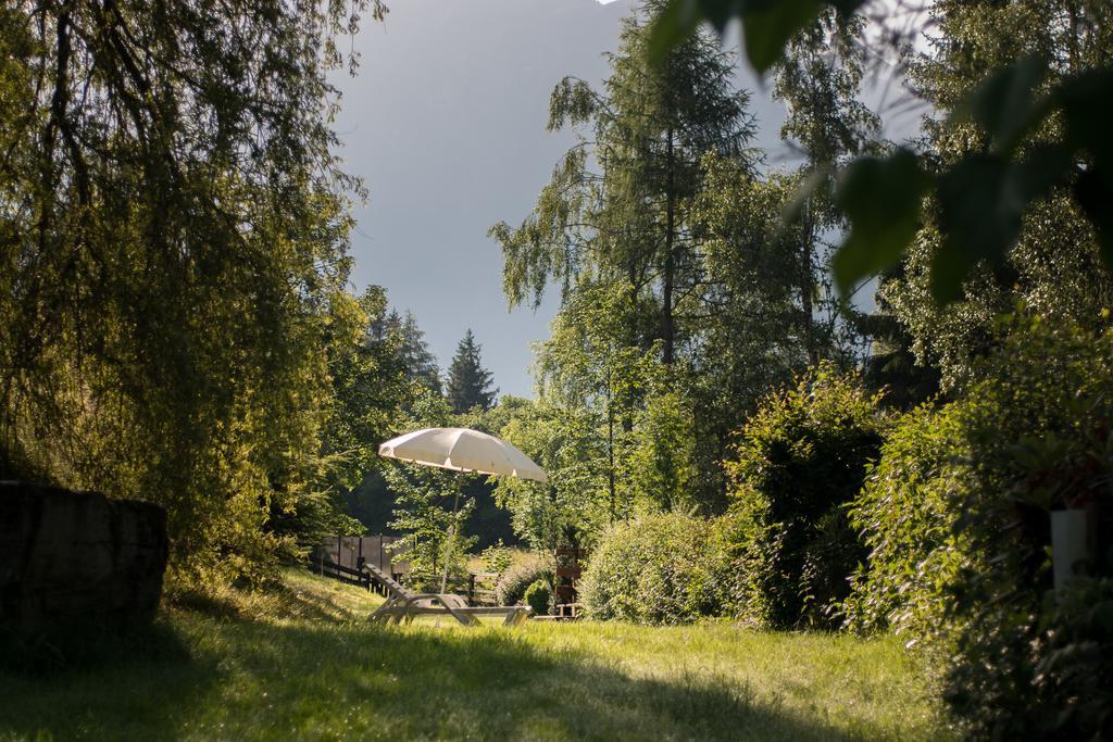
<svg viewBox="0 0 1113 742"><path fill-rule="evenodd" d="M427 427L406 433L382 444L378 455L454 472L549 481L544 469L514 446L466 427Z"/></svg>

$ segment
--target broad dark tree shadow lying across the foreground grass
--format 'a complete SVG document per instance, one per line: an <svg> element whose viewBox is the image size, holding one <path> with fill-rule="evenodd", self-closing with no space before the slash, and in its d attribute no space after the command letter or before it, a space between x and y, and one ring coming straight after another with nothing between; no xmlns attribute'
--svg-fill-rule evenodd
<svg viewBox="0 0 1113 742"><path fill-rule="evenodd" d="M177 631L188 655L0 672L0 738L850 739L737 682L632 677L512 631L211 619Z"/></svg>

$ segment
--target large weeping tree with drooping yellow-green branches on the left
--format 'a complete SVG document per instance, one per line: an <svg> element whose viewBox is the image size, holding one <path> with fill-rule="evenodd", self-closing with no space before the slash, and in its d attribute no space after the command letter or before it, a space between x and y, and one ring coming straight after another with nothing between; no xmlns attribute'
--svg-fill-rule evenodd
<svg viewBox="0 0 1113 742"><path fill-rule="evenodd" d="M0 10L3 476L166 506L175 568L273 568L352 338L327 73L368 8Z"/></svg>

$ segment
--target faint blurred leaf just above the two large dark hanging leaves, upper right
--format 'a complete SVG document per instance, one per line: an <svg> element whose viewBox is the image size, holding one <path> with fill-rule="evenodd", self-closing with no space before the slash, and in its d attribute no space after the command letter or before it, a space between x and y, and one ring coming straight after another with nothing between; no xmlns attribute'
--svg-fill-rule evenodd
<svg viewBox="0 0 1113 742"><path fill-rule="evenodd" d="M954 118L974 119L991 136L994 151L1011 152L1051 110L1053 99L1037 91L1046 73L1040 58L1021 59L978 86Z"/></svg>

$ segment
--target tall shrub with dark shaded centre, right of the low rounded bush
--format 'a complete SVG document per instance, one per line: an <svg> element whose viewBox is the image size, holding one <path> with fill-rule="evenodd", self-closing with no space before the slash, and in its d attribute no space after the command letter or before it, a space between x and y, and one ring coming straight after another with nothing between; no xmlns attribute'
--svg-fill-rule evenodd
<svg viewBox="0 0 1113 742"><path fill-rule="evenodd" d="M859 377L820 365L770 396L727 463L727 528L739 615L770 627L830 627L865 552L845 505L878 455L885 418Z"/></svg>

